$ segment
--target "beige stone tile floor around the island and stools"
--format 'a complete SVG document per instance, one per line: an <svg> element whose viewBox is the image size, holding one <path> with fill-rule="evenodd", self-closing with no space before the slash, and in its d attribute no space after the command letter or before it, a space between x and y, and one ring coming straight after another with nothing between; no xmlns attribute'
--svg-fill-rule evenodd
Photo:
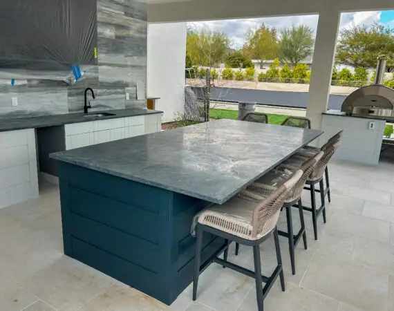
<svg viewBox="0 0 394 311"><path fill-rule="evenodd" d="M265 310L394 311L394 164L333 161L330 179L328 223L319 220L315 241L306 213L308 249L297 247L294 276L281 238L286 291L276 283ZM308 193L303 200L308 204ZM279 227L285 228L283 215ZM276 263L271 239L261 245L261 257L267 274ZM252 250L242 247L234 256L232 247L231 260L251 268ZM196 302L189 287L167 307L64 256L59 192L46 184L39 199L0 210L0 311L14 310L252 311L256 294L253 279L211 265L200 276Z"/></svg>

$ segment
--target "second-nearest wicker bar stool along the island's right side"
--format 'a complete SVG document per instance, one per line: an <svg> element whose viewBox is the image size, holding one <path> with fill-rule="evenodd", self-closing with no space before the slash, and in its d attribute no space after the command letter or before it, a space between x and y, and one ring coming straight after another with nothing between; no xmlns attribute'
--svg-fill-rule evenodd
<svg viewBox="0 0 394 311"><path fill-rule="evenodd" d="M288 195L286 196L283 202L283 208L286 209L286 221L288 225L288 231L283 232L278 230L280 236L284 236L288 238L289 241L289 252L290 252L290 263L292 266L292 274L295 274L295 254L294 249L297 247L299 241L301 241L301 237L303 238L303 247L308 249L308 245L306 242L306 231L305 231L305 222L303 220L303 205L301 201L301 194L303 191L303 187L305 186L306 181L308 180L310 174L313 169L315 169L316 164L319 162L321 157L323 156L323 151L317 153L317 155L311 159L306 160L299 169L303 171L301 179L297 182L296 185L290 191L288 191ZM272 189L278 182L282 182L283 179L288 178L292 171L288 169L284 169L280 167L281 170L273 169L272 171L265 174L262 178L256 180L252 185L246 188L247 191L253 193L259 193L263 191L263 189ZM297 204L296 204L297 203ZM297 207L299 209L299 218L301 222L301 228L299 232L294 235L293 230L293 222L292 222L292 207ZM239 245L236 244L236 254L238 254Z"/></svg>

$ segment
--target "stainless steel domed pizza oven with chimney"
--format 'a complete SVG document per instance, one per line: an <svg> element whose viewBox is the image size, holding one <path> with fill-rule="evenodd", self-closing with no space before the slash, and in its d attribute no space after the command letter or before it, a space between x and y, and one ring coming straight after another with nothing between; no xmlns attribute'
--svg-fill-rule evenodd
<svg viewBox="0 0 394 311"><path fill-rule="evenodd" d="M347 115L394 116L394 90L383 85L386 57L378 57L374 84L364 86L351 93L341 111Z"/></svg>

